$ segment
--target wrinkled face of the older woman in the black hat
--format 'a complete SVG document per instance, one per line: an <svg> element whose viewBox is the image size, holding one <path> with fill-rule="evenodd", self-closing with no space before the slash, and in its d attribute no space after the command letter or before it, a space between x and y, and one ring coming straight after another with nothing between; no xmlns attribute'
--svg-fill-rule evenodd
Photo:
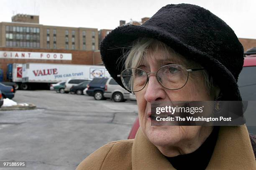
<svg viewBox="0 0 256 170"><path fill-rule="evenodd" d="M180 64L181 58L178 56L168 56L164 49L159 48L158 52L148 50L139 68L146 72L156 72L160 67L168 64ZM168 53L169 55L169 53ZM178 59L178 60L177 60ZM192 68L193 66L187 66ZM193 79L191 79L193 74ZM189 73L187 84L179 90L168 90L164 88L156 79L155 74L150 74L148 84L139 92L135 92L138 103L139 122L143 133L156 147L195 147L189 141L196 141L201 144L210 134L212 127L201 126L151 126L151 102L153 101L196 101L214 100L213 95L209 95L202 79L202 72ZM197 148L195 147L194 150ZM189 150L189 149L188 149ZM184 150L185 154L186 149ZM161 150L160 150L161 151ZM164 151L163 151L164 152ZM163 153L164 154L164 153ZM168 155L168 154L164 154Z"/></svg>

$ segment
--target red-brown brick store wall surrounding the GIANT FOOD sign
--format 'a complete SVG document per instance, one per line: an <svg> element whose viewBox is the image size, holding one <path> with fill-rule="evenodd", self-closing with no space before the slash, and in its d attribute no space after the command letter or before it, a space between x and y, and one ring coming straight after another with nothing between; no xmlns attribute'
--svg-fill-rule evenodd
<svg viewBox="0 0 256 170"><path fill-rule="evenodd" d="M46 50L46 49L30 49L30 48L7 48L0 47L0 51L26 51L26 52L56 52L56 53L72 53L72 60L30 60L30 59L1 59L0 68L4 72L4 80L6 80L7 65L10 63L56 63L56 64L81 64L93 65L94 51L82 50ZM98 61L98 60L97 60Z"/></svg>

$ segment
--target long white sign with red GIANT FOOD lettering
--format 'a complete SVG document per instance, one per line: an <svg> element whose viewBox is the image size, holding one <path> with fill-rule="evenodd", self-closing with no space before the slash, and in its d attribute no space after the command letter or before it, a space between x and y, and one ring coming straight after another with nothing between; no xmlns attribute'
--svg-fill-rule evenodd
<svg viewBox="0 0 256 170"><path fill-rule="evenodd" d="M72 60L71 53L0 51L0 59Z"/></svg>

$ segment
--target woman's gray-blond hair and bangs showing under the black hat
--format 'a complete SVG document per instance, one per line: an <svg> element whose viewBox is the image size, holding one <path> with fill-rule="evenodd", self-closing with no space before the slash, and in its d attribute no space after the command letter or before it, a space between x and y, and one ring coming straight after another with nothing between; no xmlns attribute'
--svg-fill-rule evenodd
<svg viewBox="0 0 256 170"><path fill-rule="evenodd" d="M164 49L165 53L167 53L167 55L165 55L166 59L168 59L170 56L175 56L175 61L179 62L179 64L182 64L186 67L200 67L200 65L196 62L186 60L182 55L175 52L171 47L167 46L163 42L154 40L152 38L138 38L133 42L131 50L128 50L128 52L123 54L123 60L126 59L124 62L124 67L138 67L145 59L145 54L148 50L158 51L160 47ZM202 80L205 83L205 87L207 88L208 94L210 94L212 88L215 87L215 83L213 81L212 76L209 75L207 70L202 70Z"/></svg>

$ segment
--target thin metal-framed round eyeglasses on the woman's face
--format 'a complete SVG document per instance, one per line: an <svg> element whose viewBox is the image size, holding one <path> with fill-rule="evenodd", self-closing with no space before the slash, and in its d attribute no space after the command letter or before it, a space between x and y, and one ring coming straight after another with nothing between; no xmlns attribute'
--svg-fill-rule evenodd
<svg viewBox="0 0 256 170"><path fill-rule="evenodd" d="M178 90L186 85L189 72L205 70L205 68L187 69L183 65L170 64L160 67L156 72L146 72L140 68L127 68L118 77L124 87L131 92L142 90L148 80L148 75L156 74L158 82L169 90Z"/></svg>

